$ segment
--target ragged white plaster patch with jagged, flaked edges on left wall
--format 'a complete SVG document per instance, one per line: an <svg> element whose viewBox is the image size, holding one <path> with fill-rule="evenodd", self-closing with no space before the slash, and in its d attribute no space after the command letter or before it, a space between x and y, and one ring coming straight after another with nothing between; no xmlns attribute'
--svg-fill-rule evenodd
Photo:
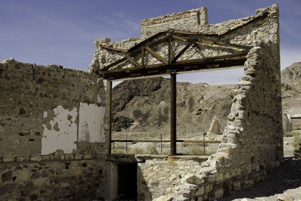
<svg viewBox="0 0 301 201"><path fill-rule="evenodd" d="M57 150L63 150L64 153L72 153L73 149L76 150L74 141L77 140L77 126L75 123L77 109L73 108L72 111L69 111L62 106L57 106L53 111L53 120L49 122L51 129L48 130L46 125L43 124L41 154L47 155Z"/></svg>

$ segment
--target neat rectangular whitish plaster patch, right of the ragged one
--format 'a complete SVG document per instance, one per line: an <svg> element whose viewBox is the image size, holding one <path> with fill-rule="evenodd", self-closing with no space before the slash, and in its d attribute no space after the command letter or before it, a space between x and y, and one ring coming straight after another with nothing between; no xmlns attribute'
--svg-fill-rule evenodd
<svg viewBox="0 0 301 201"><path fill-rule="evenodd" d="M103 118L105 107L95 104L80 103L79 106L79 141L104 142Z"/></svg>

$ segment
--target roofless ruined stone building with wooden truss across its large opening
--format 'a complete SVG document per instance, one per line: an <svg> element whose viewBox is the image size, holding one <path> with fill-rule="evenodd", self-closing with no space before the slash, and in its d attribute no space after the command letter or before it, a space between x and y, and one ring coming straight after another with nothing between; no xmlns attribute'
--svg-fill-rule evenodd
<svg viewBox="0 0 301 201"><path fill-rule="evenodd" d="M94 43L88 72L0 64L1 200L213 200L279 166L277 5L215 25L204 7L145 19L141 37ZM110 154L111 80L234 67L244 75L217 153Z"/></svg>

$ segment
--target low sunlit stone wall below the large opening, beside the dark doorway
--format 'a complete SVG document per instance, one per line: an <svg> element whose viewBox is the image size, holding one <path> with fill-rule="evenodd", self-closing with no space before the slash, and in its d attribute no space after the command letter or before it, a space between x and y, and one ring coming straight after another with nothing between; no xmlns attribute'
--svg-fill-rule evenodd
<svg viewBox="0 0 301 201"><path fill-rule="evenodd" d="M137 200L153 200L177 188L188 175L198 172L206 156L153 157L137 165ZM184 179L184 180L183 180ZM180 190L180 187L179 187Z"/></svg>

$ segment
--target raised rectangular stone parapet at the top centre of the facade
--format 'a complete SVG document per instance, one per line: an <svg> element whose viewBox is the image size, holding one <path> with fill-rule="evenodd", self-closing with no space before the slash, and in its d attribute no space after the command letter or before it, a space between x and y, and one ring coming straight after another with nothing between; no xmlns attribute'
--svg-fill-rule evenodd
<svg viewBox="0 0 301 201"><path fill-rule="evenodd" d="M141 36L150 37L168 29L198 32L208 24L207 9L201 7L180 13L141 20Z"/></svg>

